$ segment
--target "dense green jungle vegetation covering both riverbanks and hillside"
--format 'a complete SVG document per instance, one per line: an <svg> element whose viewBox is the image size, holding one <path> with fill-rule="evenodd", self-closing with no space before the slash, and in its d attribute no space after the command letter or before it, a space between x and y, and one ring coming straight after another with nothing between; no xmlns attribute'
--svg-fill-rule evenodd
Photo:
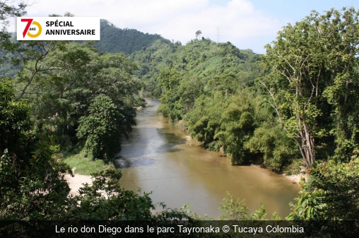
<svg viewBox="0 0 359 238"><path fill-rule="evenodd" d="M1 1L0 20L25 8ZM126 56L99 53L93 42L13 42L1 31L1 60L20 71L0 80L0 219L197 219L185 210L152 213L148 194L120 188L113 170L69 196L71 168L54 153L81 148L110 162L144 105L141 91L233 165L305 167L310 178L288 220L358 220L358 16L353 8L312 12L286 25L264 55L202 38L185 46L160 39ZM222 208L234 220L266 218L265 208L251 214L234 199Z"/></svg>

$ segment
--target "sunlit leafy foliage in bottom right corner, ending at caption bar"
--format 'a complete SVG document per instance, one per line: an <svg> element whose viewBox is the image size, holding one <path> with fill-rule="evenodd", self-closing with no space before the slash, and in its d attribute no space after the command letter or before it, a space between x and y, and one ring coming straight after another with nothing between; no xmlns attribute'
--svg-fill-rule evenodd
<svg viewBox="0 0 359 238"><path fill-rule="evenodd" d="M358 220L359 159L318 163L303 182L289 220Z"/></svg>

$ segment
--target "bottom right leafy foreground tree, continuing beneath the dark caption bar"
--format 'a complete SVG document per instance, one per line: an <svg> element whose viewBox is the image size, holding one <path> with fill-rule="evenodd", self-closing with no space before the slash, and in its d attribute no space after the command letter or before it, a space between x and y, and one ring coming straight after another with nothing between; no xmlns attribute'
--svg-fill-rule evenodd
<svg viewBox="0 0 359 238"><path fill-rule="evenodd" d="M291 203L287 220L307 226L314 237L356 237L359 214L359 160L354 150L351 161L329 160L314 163L307 182L302 181L300 196ZM315 222L316 221L316 222Z"/></svg>

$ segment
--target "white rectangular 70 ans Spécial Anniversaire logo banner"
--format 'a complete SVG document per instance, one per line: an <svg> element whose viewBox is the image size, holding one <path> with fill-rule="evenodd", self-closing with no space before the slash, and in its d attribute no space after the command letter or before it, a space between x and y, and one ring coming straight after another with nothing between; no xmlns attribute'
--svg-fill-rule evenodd
<svg viewBox="0 0 359 238"><path fill-rule="evenodd" d="M17 40L100 40L100 18L17 18Z"/></svg>

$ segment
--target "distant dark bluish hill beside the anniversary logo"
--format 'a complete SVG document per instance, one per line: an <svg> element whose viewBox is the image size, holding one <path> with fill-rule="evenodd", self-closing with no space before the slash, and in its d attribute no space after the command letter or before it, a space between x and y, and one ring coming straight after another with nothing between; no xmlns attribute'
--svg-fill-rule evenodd
<svg viewBox="0 0 359 238"><path fill-rule="evenodd" d="M143 47L151 46L156 40L170 43L170 40L157 34L145 34L135 29L117 28L105 19L101 19L100 27L101 40L95 44L100 48L100 52L132 54Z"/></svg>

